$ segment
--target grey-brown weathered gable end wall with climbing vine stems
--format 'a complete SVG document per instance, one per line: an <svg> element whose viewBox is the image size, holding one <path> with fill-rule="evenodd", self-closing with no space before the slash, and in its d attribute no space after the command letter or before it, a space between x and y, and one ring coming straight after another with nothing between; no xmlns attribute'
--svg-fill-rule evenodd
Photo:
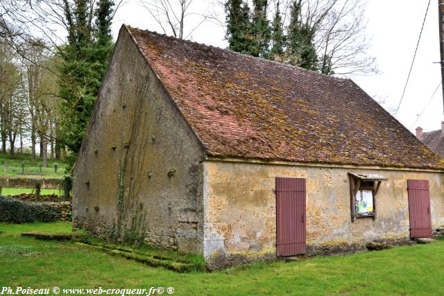
<svg viewBox="0 0 444 296"><path fill-rule="evenodd" d="M74 227L202 253L203 150L126 29L74 170Z"/></svg>

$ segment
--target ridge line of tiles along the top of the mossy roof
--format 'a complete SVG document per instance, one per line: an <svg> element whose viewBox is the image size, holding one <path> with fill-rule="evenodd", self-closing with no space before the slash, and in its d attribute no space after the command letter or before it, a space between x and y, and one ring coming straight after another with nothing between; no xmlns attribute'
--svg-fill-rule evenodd
<svg viewBox="0 0 444 296"><path fill-rule="evenodd" d="M293 66L292 64L285 64L283 62L277 62L275 60L267 60L266 58L255 57L253 55L247 55L246 53L239 53L237 51L233 51L232 49L223 49L223 48L221 48L219 46L213 46L211 44L205 44L205 43L200 43L200 42L196 42L196 41L180 39L180 38L177 38L177 37L174 37L174 36L169 36L169 35L167 35L165 33L158 33L156 31L150 31L148 29L144 30L144 29L141 29L141 28L135 28L135 27L127 25L127 24L123 24L123 26L126 26L127 28L131 28L131 29L139 30L139 31L144 31L144 32L152 33L152 34L155 34L155 35L160 36L160 37L167 37L170 40L177 40L179 42L184 42L184 43L187 43L187 44L195 44L195 45L198 45L198 46L207 46L207 47L211 47L212 49L219 50L219 51L226 51L228 53L234 53L234 55L241 55L241 56L243 56L245 58L250 58L250 59L253 59L253 60L260 60L260 61L263 61L263 62L270 62L270 63L276 64L276 65L278 65L280 67L285 67L285 68L288 68L288 69L298 69L298 70L301 70L301 71L307 71L308 73L314 73L314 74L317 74L319 76L324 76L324 77L330 78L330 79L333 78L333 79L336 79L336 80L344 80L344 81L350 80L350 78L341 78L341 77L336 77L336 76L330 76L330 75L327 75L327 74L324 74L324 73L320 73L318 71L309 70L309 69L305 69L305 68L298 67L298 66Z"/></svg>

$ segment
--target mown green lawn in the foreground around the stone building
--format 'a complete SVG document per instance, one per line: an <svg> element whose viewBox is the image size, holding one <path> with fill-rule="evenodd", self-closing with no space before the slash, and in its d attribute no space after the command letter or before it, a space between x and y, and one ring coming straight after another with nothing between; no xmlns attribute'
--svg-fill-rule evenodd
<svg viewBox="0 0 444 296"><path fill-rule="evenodd" d="M291 263L180 274L71 242L21 232L71 232L69 223L0 223L0 286L175 289L174 295L443 295L444 239L429 245ZM167 295L167 293L164 293Z"/></svg>

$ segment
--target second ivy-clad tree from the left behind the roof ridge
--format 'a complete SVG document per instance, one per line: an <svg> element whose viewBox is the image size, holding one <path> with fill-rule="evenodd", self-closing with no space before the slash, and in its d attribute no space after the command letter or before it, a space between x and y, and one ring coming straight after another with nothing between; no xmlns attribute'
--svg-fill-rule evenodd
<svg viewBox="0 0 444 296"><path fill-rule="evenodd" d="M268 0L253 0L253 22L251 24L251 53L255 57L268 58L271 28L266 17Z"/></svg>

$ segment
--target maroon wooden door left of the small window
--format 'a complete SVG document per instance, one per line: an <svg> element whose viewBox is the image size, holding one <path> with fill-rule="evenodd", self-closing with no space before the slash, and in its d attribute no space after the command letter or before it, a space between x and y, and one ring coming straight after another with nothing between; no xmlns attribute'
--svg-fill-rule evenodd
<svg viewBox="0 0 444 296"><path fill-rule="evenodd" d="M304 254L305 179L276 178L276 254Z"/></svg>

